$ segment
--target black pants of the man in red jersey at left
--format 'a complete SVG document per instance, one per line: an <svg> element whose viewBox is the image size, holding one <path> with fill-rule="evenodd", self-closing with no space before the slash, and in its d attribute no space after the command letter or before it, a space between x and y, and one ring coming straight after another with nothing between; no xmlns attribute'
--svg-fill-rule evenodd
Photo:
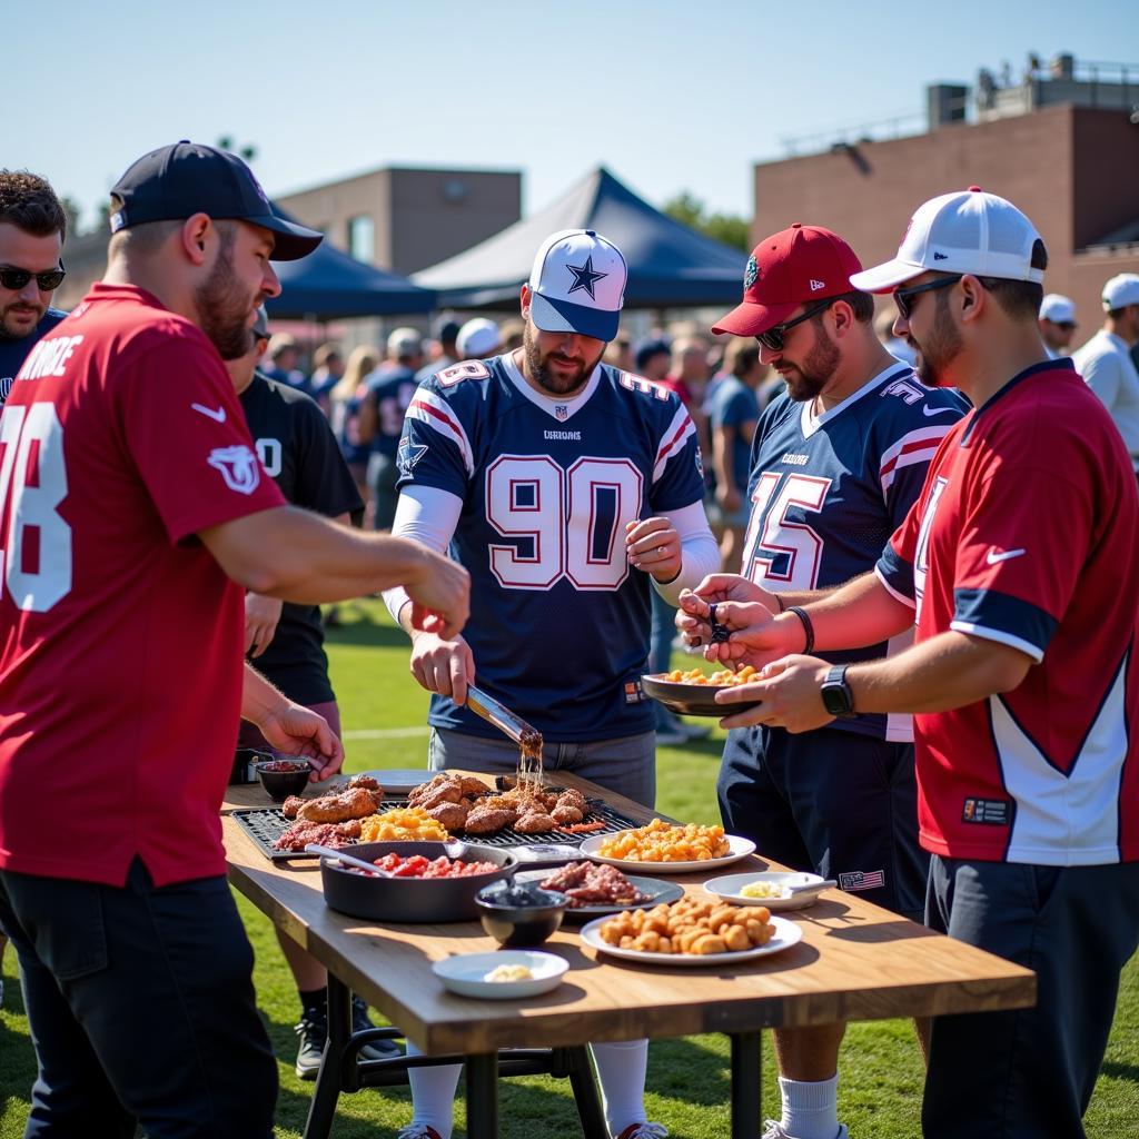
<svg viewBox="0 0 1139 1139"><path fill-rule="evenodd" d="M25 1139L269 1139L277 1065L224 878L0 871L39 1062Z"/></svg>

